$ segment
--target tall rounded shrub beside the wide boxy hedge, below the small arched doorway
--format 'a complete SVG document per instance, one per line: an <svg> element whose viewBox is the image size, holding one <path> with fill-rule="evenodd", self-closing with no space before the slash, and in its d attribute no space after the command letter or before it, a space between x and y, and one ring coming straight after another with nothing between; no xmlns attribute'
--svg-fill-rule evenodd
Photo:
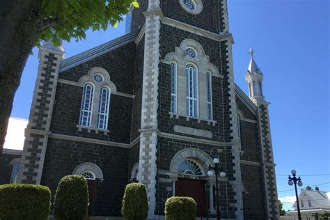
<svg viewBox="0 0 330 220"><path fill-rule="evenodd" d="M54 217L59 220L81 220L88 213L88 184L82 175L66 175L56 189Z"/></svg>

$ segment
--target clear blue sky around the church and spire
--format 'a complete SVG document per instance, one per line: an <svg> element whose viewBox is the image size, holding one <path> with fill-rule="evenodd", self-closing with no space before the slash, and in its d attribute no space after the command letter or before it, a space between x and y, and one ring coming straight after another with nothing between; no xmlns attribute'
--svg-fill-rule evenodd
<svg viewBox="0 0 330 220"><path fill-rule="evenodd" d="M327 0L228 1L235 81L247 93L244 74L253 47L264 74L266 100L272 103L269 114L280 198L294 196L286 176L292 168L301 174L304 187L320 185L322 191L330 191L329 8ZM106 32L88 31L84 41L63 43L65 57L124 33L125 22ZM37 69L35 48L26 63L12 117L29 118ZM288 201L285 209L290 208Z"/></svg>

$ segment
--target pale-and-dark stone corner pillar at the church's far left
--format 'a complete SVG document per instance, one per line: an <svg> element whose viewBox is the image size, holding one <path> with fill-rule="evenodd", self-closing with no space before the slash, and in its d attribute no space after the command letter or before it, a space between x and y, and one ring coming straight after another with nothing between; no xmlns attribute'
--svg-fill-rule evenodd
<svg viewBox="0 0 330 220"><path fill-rule="evenodd" d="M40 48L40 63L17 182L40 184L63 52Z"/></svg>

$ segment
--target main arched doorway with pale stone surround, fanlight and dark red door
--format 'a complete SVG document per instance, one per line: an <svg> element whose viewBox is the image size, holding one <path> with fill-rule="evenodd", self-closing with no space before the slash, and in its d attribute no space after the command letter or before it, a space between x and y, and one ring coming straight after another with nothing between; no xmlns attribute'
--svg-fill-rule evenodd
<svg viewBox="0 0 330 220"><path fill-rule="evenodd" d="M197 203L197 217L206 217L207 212L214 213L213 189L214 177L206 175L212 158L203 150L186 148L175 154L170 171L173 180L173 196L189 196Z"/></svg>

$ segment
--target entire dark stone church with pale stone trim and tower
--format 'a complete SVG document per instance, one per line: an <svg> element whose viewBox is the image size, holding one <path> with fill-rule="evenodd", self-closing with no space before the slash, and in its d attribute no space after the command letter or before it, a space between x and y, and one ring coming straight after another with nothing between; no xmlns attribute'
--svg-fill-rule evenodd
<svg viewBox="0 0 330 220"><path fill-rule="evenodd" d="M126 184L141 182L148 219L164 219L171 196L216 219L218 158L221 219L279 219L263 74L250 49L249 95L235 84L226 0L139 4L120 38L70 58L40 47L17 182L54 196L63 176L84 175L88 212L104 219L120 219Z"/></svg>

